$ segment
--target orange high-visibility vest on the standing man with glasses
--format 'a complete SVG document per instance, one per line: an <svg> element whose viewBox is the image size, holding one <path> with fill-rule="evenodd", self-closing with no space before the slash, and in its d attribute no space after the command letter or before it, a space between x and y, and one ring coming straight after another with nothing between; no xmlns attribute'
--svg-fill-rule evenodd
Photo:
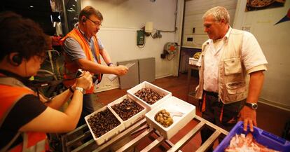
<svg viewBox="0 0 290 152"><path fill-rule="evenodd" d="M81 48L83 49L83 52L85 53L87 59L92 62L95 62L94 58L92 57L92 50L90 50L88 42L85 40L83 34L81 34L81 32L78 31L78 29L74 28L73 30L71 30L71 32L69 32L69 34L64 36L64 38L62 39L62 45L64 44L64 41L65 39L67 39L67 37L75 39L81 45ZM101 64L101 60L99 57L99 45L97 44L97 37L93 36L93 39L94 39L95 55L97 56L97 62ZM71 62L71 60L68 59L66 53L64 53L64 68L65 68L64 78L74 78L74 74L76 74L76 71L78 71L78 69L81 69L81 67L78 66L76 61ZM73 85L75 81L76 81L75 79L72 81L64 81L64 85L69 87L70 85ZM99 82L101 81L101 74L99 74L98 76L98 81ZM90 90L86 90L86 93L92 93L93 91L94 86L92 86Z"/></svg>

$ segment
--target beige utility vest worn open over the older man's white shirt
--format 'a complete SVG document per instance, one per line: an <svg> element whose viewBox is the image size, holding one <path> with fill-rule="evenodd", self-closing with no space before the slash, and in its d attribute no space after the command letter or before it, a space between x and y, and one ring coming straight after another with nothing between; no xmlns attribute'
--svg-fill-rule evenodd
<svg viewBox="0 0 290 152"><path fill-rule="evenodd" d="M247 98L247 73L242 62L242 38L243 32L237 29L230 31L228 40L224 42L219 61L219 99L223 104L238 102ZM205 51L209 44L202 44L201 60L199 71L200 83L196 89L195 97L202 99L205 71Z"/></svg>

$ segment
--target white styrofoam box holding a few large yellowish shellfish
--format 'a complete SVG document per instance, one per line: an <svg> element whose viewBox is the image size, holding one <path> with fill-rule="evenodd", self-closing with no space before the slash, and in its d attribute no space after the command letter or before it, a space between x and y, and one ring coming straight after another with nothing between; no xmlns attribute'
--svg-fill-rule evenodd
<svg viewBox="0 0 290 152"><path fill-rule="evenodd" d="M165 109L170 112L170 116L173 119L172 125L169 127L163 127L160 123L158 123L154 117L158 111ZM181 112L182 116L174 116L173 113ZM145 114L147 123L158 130L163 137L166 139L170 139L181 130L187 123L189 123L195 117L195 106L192 104L188 104L177 97L170 97L163 104L160 104L155 109L152 109L148 113Z"/></svg>

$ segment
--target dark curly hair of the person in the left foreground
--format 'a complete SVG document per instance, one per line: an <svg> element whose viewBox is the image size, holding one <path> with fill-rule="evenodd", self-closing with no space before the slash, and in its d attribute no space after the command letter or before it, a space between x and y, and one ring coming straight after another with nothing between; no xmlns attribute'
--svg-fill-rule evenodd
<svg viewBox="0 0 290 152"><path fill-rule="evenodd" d="M29 60L34 55L42 56L51 46L50 37L36 22L11 11L0 13L0 35L0 60L11 53Z"/></svg>

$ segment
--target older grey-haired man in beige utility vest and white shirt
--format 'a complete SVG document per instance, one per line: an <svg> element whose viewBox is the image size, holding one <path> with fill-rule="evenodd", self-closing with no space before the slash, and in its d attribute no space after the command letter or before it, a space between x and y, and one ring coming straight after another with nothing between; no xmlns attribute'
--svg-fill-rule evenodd
<svg viewBox="0 0 290 152"><path fill-rule="evenodd" d="M237 120L253 131L256 109L267 60L253 34L232 29L226 8L217 6L203 15L209 39L202 45L200 83L196 97L200 99L202 118L230 130ZM202 130L202 142L212 130Z"/></svg>

